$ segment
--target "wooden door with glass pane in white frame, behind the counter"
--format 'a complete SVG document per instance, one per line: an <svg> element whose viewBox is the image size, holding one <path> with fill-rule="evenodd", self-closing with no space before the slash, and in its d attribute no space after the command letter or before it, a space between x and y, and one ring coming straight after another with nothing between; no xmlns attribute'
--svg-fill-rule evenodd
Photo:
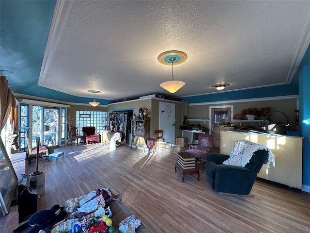
<svg viewBox="0 0 310 233"><path fill-rule="evenodd" d="M211 134L214 135L214 146L220 146L219 120L232 120L232 107L210 107L211 108Z"/></svg>

